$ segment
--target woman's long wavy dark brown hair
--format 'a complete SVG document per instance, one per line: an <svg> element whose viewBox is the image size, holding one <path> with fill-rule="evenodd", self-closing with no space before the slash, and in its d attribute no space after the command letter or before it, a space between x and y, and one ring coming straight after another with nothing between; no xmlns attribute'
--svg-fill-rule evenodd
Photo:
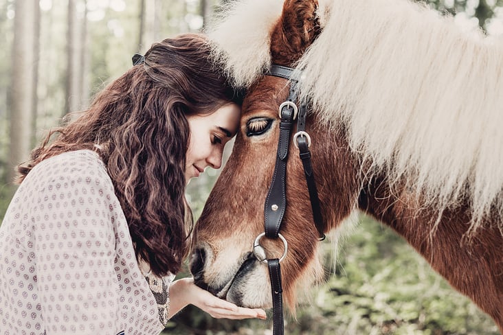
<svg viewBox="0 0 503 335"><path fill-rule="evenodd" d="M76 121L52 130L18 167L19 182L44 159L100 144L137 259L156 275L177 273L192 227L185 198L187 116L232 102L241 104L241 95L211 61L207 40L198 34L168 38L98 93ZM52 134L57 137L49 141Z"/></svg>

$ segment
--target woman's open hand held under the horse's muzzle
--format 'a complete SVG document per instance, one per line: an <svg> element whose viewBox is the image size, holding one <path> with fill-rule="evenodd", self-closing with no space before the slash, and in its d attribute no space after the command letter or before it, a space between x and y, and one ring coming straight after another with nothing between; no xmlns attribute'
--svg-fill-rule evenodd
<svg viewBox="0 0 503 335"><path fill-rule="evenodd" d="M266 319L260 308L243 308L215 297L210 292L197 287L192 278L173 281L170 286L169 316L175 315L186 305L192 304L216 319Z"/></svg>

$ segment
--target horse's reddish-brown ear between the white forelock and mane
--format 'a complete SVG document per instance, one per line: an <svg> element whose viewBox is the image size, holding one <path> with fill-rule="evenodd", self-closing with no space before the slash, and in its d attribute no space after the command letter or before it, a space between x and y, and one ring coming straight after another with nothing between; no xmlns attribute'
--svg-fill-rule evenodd
<svg viewBox="0 0 503 335"><path fill-rule="evenodd" d="M304 54L320 34L317 0L285 0L283 12L271 34L274 63L290 66Z"/></svg>

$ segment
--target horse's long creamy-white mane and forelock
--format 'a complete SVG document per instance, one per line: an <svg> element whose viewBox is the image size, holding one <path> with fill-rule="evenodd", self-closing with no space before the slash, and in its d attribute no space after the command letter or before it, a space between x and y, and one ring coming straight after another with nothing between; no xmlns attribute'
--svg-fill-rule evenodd
<svg viewBox="0 0 503 335"><path fill-rule="evenodd" d="M232 34L236 27L247 34L223 47L241 84L271 61L269 35L249 25L276 22L277 1L266 2L260 14L232 18ZM343 125L372 172L388 174L391 185L405 179L440 213L466 197L472 229L491 206L502 218L502 41L462 32L453 19L407 0L320 0L319 15L323 31L298 68L302 94L322 122Z"/></svg>

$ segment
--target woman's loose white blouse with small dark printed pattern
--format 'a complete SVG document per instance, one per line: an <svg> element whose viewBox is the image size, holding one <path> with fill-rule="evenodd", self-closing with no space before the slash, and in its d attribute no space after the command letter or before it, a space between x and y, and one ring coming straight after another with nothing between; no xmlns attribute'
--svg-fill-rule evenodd
<svg viewBox="0 0 503 335"><path fill-rule="evenodd" d="M59 154L26 176L0 227L0 334L159 334L171 280L142 274L98 154Z"/></svg>

